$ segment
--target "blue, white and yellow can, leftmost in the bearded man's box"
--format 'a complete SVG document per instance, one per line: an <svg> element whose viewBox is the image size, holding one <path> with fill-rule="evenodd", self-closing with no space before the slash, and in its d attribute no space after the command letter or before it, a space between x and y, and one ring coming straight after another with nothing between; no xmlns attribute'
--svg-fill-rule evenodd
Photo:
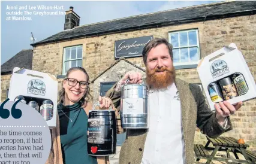
<svg viewBox="0 0 256 164"><path fill-rule="evenodd" d="M212 102L224 101L221 89L219 88L218 84L210 83L208 86L208 92L210 94L210 99L212 99Z"/></svg>

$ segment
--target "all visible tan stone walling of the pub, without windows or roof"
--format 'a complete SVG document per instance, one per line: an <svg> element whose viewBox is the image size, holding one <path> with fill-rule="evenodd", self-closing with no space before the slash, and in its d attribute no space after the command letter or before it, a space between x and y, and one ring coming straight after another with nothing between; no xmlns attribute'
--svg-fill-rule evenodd
<svg viewBox="0 0 256 164"><path fill-rule="evenodd" d="M242 51L246 63L254 76L254 80L256 80L256 15L209 20L206 22L166 26L154 29L143 29L39 45L34 48L32 69L36 71L49 72L54 75L61 75L64 47L79 44L83 45L83 67L88 71L90 80L93 80L101 74L101 72L116 62L114 56L116 40L149 35L153 35L154 38L168 38L168 32L187 29L198 29L201 57L213 53L224 45L229 45L231 42L234 42L237 45L237 48ZM144 69L144 63L141 57L129 58L127 60ZM115 81L119 79L119 77L116 76L116 72L111 70L113 69L110 69L109 72L107 72L108 75L106 75L106 77L96 81L97 86L92 86L95 89L95 93L93 93L94 97L97 97L99 93L98 85L100 81L115 80L112 77L116 78ZM177 77L182 78L189 83L201 83L195 68L179 69L176 70L176 72ZM120 73L123 72L121 71ZM59 88L61 88L61 81L62 80L60 79ZM4 93L4 89L7 89L5 84L7 85L7 82L2 83L1 93L2 91ZM236 115L232 116L231 120L233 121L234 130L231 130L224 135L244 138L247 144L252 148L256 148L256 99L245 102L242 109L240 109ZM200 132L196 132L195 142L205 141L205 136L201 135Z"/></svg>

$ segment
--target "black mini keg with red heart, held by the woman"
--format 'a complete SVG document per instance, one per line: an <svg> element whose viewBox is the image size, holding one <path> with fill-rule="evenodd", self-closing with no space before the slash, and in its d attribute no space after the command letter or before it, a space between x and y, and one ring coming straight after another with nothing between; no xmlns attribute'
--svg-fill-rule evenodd
<svg viewBox="0 0 256 164"><path fill-rule="evenodd" d="M96 102L89 111L87 148L91 156L109 156L116 153L116 115L109 110L95 110Z"/></svg>

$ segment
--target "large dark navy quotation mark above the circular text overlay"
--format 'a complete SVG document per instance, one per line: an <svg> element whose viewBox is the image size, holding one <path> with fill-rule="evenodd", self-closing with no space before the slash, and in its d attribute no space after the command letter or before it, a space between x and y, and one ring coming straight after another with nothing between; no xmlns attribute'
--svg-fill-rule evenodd
<svg viewBox="0 0 256 164"><path fill-rule="evenodd" d="M8 119L10 116L10 111L4 108L5 103L7 103L9 100L10 99L6 99L0 106L0 117L2 119ZM11 116L13 116L14 119L20 119L20 117L22 117L22 111L20 109L16 109L16 105L21 100L22 99L19 99L18 101L14 102L13 107L11 107Z"/></svg>

